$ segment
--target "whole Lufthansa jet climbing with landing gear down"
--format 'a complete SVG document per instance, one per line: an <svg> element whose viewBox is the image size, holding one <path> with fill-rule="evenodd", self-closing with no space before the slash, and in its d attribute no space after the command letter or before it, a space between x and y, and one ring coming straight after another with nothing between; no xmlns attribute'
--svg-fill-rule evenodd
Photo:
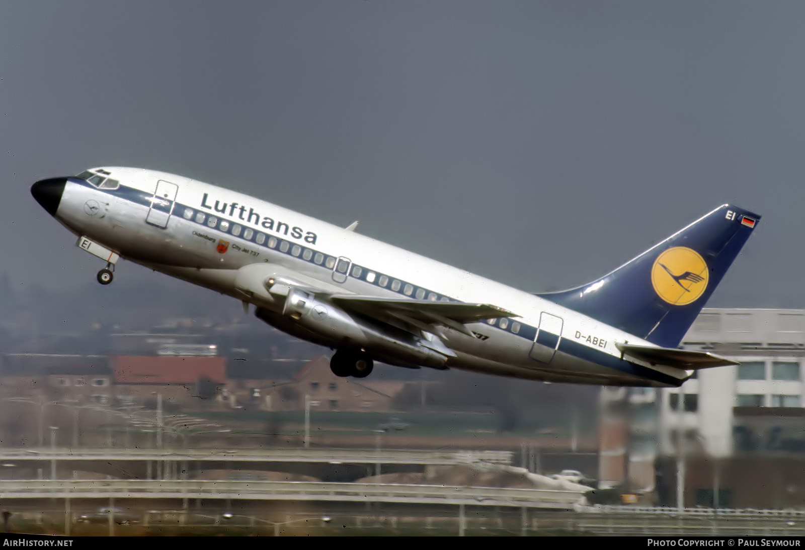
<svg viewBox="0 0 805 550"><path fill-rule="evenodd" d="M678 349L760 216L725 204L615 269L526 293L260 199L182 176L102 167L31 194L77 246L252 304L264 322L330 347L337 376L374 361L573 384L678 387L737 364Z"/></svg>

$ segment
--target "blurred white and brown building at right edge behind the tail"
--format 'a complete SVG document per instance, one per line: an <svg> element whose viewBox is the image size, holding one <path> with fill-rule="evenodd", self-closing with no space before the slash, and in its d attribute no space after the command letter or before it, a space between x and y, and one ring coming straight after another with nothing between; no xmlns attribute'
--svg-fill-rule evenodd
<svg viewBox="0 0 805 550"><path fill-rule="evenodd" d="M805 507L805 310L705 309L683 347L741 363L659 391L658 463L676 505Z"/></svg>

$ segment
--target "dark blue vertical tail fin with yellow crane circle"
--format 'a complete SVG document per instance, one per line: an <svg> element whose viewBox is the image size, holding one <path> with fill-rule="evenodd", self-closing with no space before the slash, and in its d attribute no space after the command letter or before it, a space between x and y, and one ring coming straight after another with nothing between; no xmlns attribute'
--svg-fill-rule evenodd
<svg viewBox="0 0 805 550"><path fill-rule="evenodd" d="M537 296L677 347L759 220L725 204L597 281Z"/></svg>

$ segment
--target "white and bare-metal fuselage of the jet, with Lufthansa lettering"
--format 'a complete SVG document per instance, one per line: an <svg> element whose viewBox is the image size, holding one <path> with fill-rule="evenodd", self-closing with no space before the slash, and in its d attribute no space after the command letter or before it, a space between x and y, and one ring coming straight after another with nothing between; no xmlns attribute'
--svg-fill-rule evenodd
<svg viewBox="0 0 805 550"><path fill-rule="evenodd" d="M469 325L476 337L446 330L445 343L456 352L446 367L656 387L688 376L624 361L615 343L652 344L522 290L222 187L153 170L105 170L119 186L68 179L57 220L130 261L238 300L279 312L279 303L248 300L237 290L243 268L268 264L324 292L492 304L517 315ZM278 328L292 328L287 322ZM558 339L536 342L540 330Z"/></svg>

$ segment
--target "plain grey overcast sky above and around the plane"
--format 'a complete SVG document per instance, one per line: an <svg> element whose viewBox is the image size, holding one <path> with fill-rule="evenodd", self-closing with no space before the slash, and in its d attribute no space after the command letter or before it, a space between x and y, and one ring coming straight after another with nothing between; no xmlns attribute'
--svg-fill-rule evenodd
<svg viewBox="0 0 805 550"><path fill-rule="evenodd" d="M709 305L805 306L803 28L803 2L2 2L4 269L96 284L29 188L122 165L526 290L732 202L763 220Z"/></svg>

